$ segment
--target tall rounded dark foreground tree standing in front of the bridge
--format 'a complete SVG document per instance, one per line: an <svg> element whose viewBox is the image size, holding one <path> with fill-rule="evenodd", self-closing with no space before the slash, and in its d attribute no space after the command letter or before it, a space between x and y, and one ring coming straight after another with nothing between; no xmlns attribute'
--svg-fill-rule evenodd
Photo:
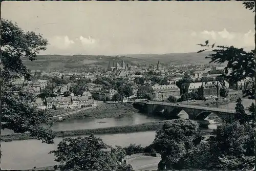
<svg viewBox="0 0 256 171"><path fill-rule="evenodd" d="M199 125L191 120L166 121L157 131L154 149L161 154L159 169L181 169L188 149L197 146L202 139Z"/></svg>

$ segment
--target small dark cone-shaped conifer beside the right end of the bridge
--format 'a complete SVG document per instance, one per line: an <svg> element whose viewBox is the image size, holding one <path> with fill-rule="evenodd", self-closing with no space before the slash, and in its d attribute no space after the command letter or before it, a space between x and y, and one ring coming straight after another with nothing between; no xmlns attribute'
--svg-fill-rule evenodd
<svg viewBox="0 0 256 171"><path fill-rule="evenodd" d="M237 102L236 108L234 108L236 109L236 113L234 114L234 120L238 120L241 124L248 123L249 118L244 111L244 105L242 104L242 99L239 97L236 102Z"/></svg>

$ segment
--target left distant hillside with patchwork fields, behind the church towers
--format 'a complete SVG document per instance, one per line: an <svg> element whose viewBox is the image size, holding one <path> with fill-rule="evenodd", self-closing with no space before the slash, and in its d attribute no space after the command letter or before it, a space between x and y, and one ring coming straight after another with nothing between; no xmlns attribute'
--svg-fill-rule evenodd
<svg viewBox="0 0 256 171"><path fill-rule="evenodd" d="M42 71L84 71L88 68L100 67L108 68L109 62L111 67L116 62L121 66L122 60L130 66L150 65L150 62L144 59L137 59L127 56L94 56L94 55L38 55L35 61L23 59L24 64L30 70Z"/></svg>

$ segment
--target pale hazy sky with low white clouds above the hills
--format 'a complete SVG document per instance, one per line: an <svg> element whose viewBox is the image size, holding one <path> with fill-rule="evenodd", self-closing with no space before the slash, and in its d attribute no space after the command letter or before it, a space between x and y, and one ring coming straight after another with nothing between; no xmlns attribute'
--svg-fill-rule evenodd
<svg viewBox="0 0 256 171"><path fill-rule="evenodd" d="M242 2L2 2L1 16L49 40L40 54L197 52L205 40L254 48L254 13Z"/></svg>

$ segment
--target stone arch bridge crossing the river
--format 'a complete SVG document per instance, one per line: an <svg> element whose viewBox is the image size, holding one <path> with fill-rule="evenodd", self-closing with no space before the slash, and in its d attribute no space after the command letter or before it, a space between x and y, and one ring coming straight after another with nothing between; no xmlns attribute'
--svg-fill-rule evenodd
<svg viewBox="0 0 256 171"><path fill-rule="evenodd" d="M220 108L208 108L204 106L195 105L177 105L176 103L166 103L158 101L150 102L134 102L133 106L135 109L140 110L140 112L155 114L160 113L165 116L177 116L182 110L188 114L188 119L203 120L210 113L214 113L219 116L222 120L226 120L232 114L236 113L235 110L220 109Z"/></svg>

